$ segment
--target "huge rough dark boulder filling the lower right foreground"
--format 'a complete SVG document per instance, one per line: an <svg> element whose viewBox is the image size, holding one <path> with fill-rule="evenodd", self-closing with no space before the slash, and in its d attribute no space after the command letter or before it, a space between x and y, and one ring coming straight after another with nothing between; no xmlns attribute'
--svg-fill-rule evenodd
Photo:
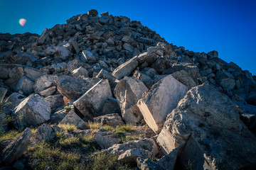
<svg viewBox="0 0 256 170"><path fill-rule="evenodd" d="M174 149L192 169L254 169L256 137L239 118L241 108L208 84L193 87L166 118L157 142Z"/></svg>

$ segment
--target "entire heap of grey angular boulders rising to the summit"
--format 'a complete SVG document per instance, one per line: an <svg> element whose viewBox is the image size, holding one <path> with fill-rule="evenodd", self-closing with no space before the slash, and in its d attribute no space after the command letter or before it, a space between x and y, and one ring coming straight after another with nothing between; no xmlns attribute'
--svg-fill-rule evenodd
<svg viewBox="0 0 256 170"><path fill-rule="evenodd" d="M256 77L216 51L185 50L139 21L91 10L41 35L0 34L0 59L0 101L11 102L0 120L25 130L1 151L4 164L25 152L31 127L95 121L155 132L127 143L96 134L102 152L139 169L256 167Z"/></svg>

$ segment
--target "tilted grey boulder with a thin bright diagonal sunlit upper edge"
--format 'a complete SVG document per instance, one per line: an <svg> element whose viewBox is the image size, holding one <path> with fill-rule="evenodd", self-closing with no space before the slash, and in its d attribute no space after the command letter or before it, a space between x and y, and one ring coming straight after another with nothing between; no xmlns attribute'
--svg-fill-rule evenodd
<svg viewBox="0 0 256 170"><path fill-rule="evenodd" d="M102 79L73 104L82 115L92 118L101 114L105 102L110 97L112 97L110 84L107 80Z"/></svg>

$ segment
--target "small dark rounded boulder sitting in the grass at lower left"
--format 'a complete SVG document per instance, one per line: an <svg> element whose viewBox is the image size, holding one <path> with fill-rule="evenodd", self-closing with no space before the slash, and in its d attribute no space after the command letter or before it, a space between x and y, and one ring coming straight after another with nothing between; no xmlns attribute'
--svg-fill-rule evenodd
<svg viewBox="0 0 256 170"><path fill-rule="evenodd" d="M54 129L47 124L43 124L38 127L36 132L33 134L33 139L38 141L51 142L56 137Z"/></svg>

